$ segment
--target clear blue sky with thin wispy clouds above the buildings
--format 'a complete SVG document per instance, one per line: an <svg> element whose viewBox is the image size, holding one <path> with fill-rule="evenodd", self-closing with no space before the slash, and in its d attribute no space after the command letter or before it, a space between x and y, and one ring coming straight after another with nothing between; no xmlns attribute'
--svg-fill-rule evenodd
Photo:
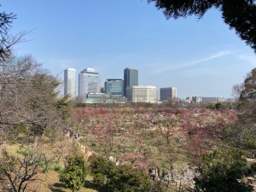
<svg viewBox="0 0 256 192"><path fill-rule="evenodd" d="M26 31L17 55L33 55L63 79L67 67L92 67L106 79L137 68L139 84L177 87L177 96L231 96L256 67L256 55L218 10L201 20L166 20L146 0L3 0L0 9ZM30 32L31 31L31 32Z"/></svg>

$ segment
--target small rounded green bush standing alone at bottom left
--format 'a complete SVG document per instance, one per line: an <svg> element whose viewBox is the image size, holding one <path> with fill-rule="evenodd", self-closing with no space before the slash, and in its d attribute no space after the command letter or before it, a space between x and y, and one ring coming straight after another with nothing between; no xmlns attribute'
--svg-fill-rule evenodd
<svg viewBox="0 0 256 192"><path fill-rule="evenodd" d="M67 166L60 174L60 181L65 183L72 191L79 190L84 185L84 178L87 174L87 166L82 155L70 157Z"/></svg>

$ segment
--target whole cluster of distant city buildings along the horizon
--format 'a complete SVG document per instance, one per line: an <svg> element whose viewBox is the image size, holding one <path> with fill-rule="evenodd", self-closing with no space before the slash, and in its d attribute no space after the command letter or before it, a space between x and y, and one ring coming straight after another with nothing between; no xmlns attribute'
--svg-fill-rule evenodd
<svg viewBox="0 0 256 192"><path fill-rule="evenodd" d="M77 95L77 71L64 70L64 96L71 96L82 103L103 102L165 102L177 97L177 87L158 90L154 85L138 84L138 70L124 69L124 79L106 79L101 84L101 75L93 68L85 68L79 73L79 95ZM223 96L188 96L184 102L225 102Z"/></svg>

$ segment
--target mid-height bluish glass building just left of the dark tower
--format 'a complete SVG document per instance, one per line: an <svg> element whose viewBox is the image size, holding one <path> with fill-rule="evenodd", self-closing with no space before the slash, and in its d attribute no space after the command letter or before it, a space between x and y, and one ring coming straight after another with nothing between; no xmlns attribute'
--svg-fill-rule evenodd
<svg viewBox="0 0 256 192"><path fill-rule="evenodd" d="M123 96L123 80L107 79L105 82L105 93L108 96Z"/></svg>

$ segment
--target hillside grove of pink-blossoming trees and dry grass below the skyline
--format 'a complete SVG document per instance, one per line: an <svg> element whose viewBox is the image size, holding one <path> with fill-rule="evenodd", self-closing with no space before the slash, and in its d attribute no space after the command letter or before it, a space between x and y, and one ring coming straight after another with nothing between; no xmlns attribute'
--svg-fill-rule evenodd
<svg viewBox="0 0 256 192"><path fill-rule="evenodd" d="M64 135L59 132L59 135L45 134L38 139L37 148L46 152L52 162L64 167L67 157L74 152L84 154L86 160L91 154L102 155L106 159L113 157L119 164L131 164L146 174L150 167L159 167L160 175L163 171L174 172L175 182L183 189L194 183L193 177L183 177L189 166L200 165L202 155L216 148L234 148L236 138L230 137L231 127L237 120L237 113L232 109L135 106L72 108L72 111L71 129L78 131L77 139L70 138L68 131ZM19 143L7 144L6 148L9 154L15 154L20 146ZM250 148L244 148L244 157L250 153ZM250 161L248 165L256 160ZM42 172L41 168L38 171L40 180L30 184L28 191L68 191L60 183L58 172ZM253 178L252 175L250 177ZM79 191L96 191L92 180L89 175L85 187ZM176 188L173 183L169 187L171 191Z"/></svg>

